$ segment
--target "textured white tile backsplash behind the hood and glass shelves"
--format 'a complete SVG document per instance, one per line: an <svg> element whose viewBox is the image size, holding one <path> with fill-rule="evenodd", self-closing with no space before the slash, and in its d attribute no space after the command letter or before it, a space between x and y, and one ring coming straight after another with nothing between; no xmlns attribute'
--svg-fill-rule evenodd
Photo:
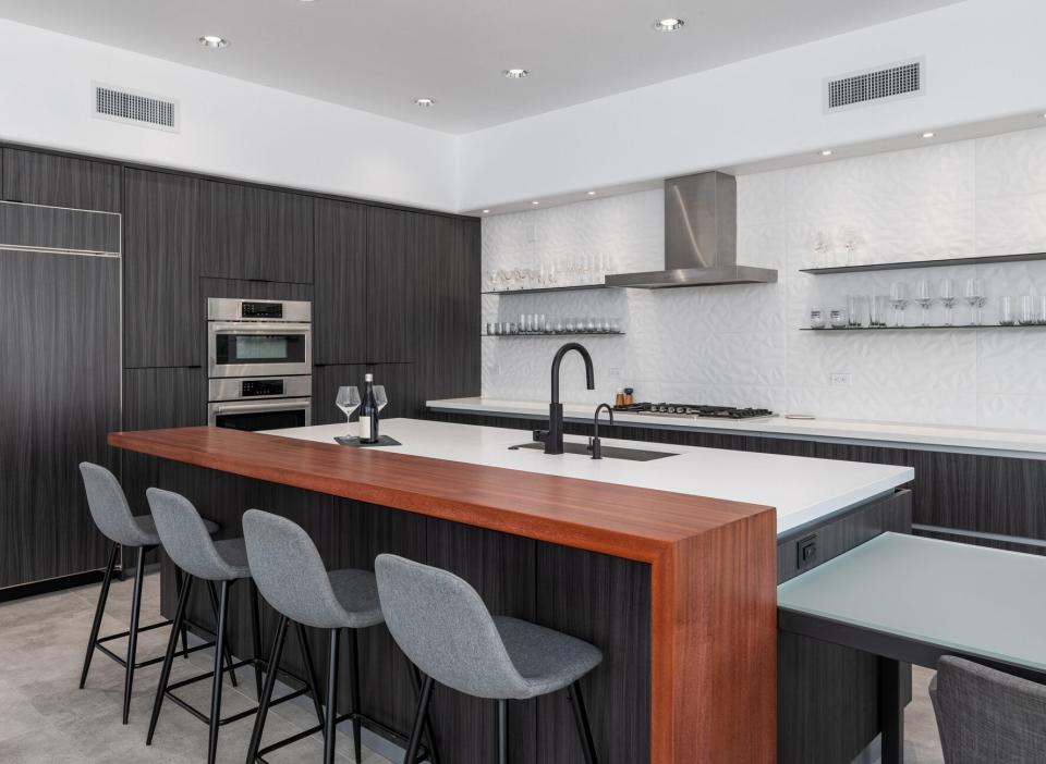
<svg viewBox="0 0 1046 764"><path fill-rule="evenodd" d="M739 262L777 268L779 283L647 292L606 289L484 298L484 320L523 312L618 317L624 337L585 340L598 390L580 361L563 367L564 401L608 401L630 384L644 401L765 406L779 412L1046 430L1046 326L911 332L801 332L811 307L846 295L980 275L997 320L1004 295L1046 295L1046 262L814 276L854 262L1046 251L1046 128L738 178ZM485 273L584 257L610 270L658 269L660 192L594 199L483 222ZM817 233L832 251L814 251ZM940 322L942 308L935 306ZM917 321L908 308L908 321ZM966 322L969 308L956 309ZM483 394L547 401L555 338L484 338ZM615 375L615 370L619 373ZM832 372L851 386L829 385Z"/></svg>

